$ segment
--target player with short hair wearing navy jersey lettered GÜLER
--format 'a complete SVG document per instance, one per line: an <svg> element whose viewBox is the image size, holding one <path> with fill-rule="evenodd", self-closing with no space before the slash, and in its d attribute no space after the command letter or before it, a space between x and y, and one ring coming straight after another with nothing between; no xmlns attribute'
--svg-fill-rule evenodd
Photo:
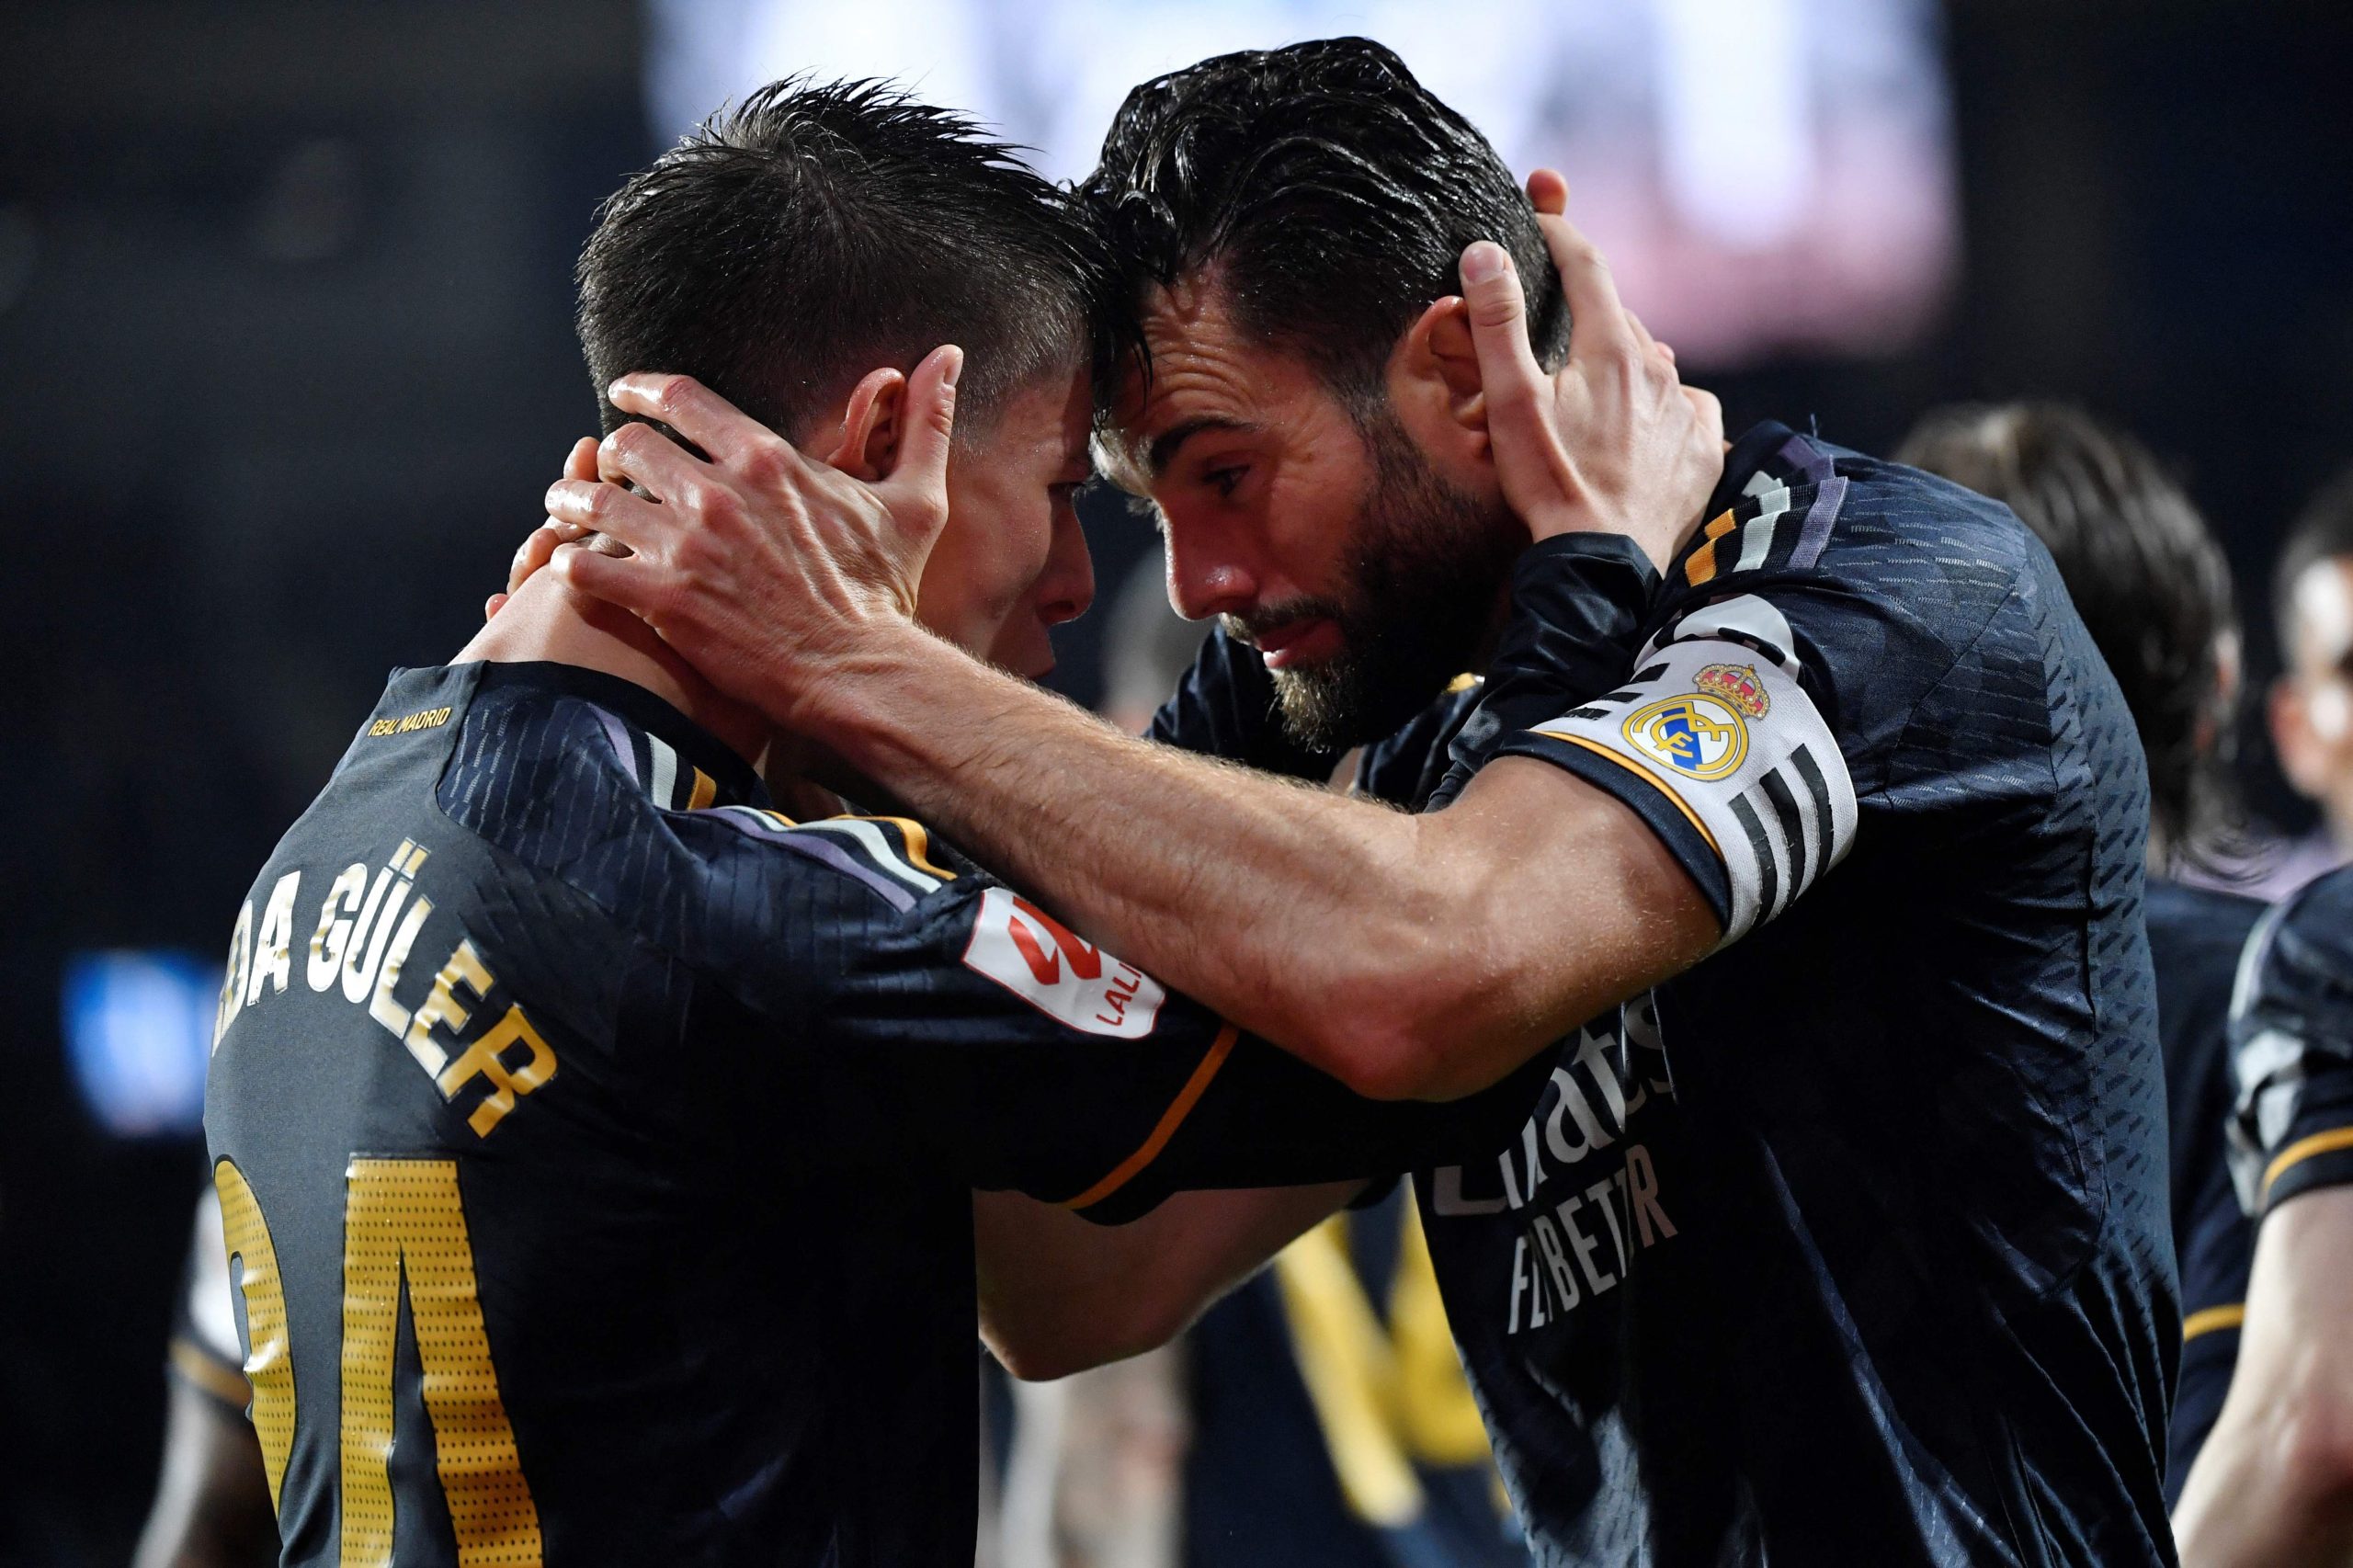
<svg viewBox="0 0 2353 1568"><path fill-rule="evenodd" d="M960 120L784 82L607 205L581 339L953 513L908 607L1038 673L1087 596L1082 240ZM944 337L962 381L915 363ZM840 808L791 744L544 577L393 676L271 855L205 1130L287 1563L967 1568L974 1187L1120 1217L1459 1121L1240 1036L913 819L795 822L755 763Z"/></svg>

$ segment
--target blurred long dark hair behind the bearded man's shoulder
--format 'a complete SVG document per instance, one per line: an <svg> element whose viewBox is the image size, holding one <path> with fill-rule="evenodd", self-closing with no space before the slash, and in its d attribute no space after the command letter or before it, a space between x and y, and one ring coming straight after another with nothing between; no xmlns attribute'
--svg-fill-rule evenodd
<svg viewBox="0 0 2353 1568"><path fill-rule="evenodd" d="M2158 843L2209 862L2240 824L2217 666L2238 610L2188 492L2139 440L2059 403L1934 410L1897 461L2007 504L2042 539L2141 732Z"/></svg>

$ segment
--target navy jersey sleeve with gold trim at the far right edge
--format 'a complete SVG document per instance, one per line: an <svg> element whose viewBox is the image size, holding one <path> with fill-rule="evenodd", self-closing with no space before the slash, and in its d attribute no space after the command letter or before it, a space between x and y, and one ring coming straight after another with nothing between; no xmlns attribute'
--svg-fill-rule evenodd
<svg viewBox="0 0 2353 1568"><path fill-rule="evenodd" d="M2231 1172L2257 1222L2353 1182L2353 866L2282 899L2231 998Z"/></svg>

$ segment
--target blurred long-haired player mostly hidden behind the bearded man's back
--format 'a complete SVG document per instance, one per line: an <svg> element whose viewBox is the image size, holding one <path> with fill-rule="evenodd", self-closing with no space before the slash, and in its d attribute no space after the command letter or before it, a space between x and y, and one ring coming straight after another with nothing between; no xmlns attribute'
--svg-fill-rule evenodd
<svg viewBox="0 0 2353 1568"><path fill-rule="evenodd" d="M2148 949L2184 1307L2165 1460L2165 1500L2174 1504L2231 1389L2254 1253L2224 1156L2233 1102L2226 1036L2238 956L2264 906L2167 876L2212 850L2231 817L2217 756L2238 699L2231 567L2148 447L2073 407L1937 410L1897 457L2007 504L2035 530L2125 690L2148 756Z"/></svg>

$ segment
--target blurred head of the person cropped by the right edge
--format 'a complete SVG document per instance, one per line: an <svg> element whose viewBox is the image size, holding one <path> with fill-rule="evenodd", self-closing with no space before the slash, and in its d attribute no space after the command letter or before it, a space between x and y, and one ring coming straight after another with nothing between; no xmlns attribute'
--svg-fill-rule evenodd
<svg viewBox="0 0 2353 1568"><path fill-rule="evenodd" d="M2273 614L2282 669L2271 744L2320 808L2320 831L2273 878L2292 888L2353 855L2353 471L2313 497L2280 546Z"/></svg>

